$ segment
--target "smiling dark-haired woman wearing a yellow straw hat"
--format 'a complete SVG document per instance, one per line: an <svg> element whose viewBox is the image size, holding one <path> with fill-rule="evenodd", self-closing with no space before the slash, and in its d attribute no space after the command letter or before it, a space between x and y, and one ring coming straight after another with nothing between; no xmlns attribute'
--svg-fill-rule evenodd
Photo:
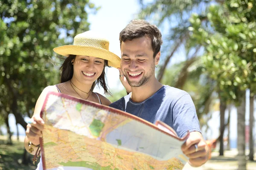
<svg viewBox="0 0 256 170"><path fill-rule="evenodd" d="M109 41L99 37L93 31L86 31L76 35L73 45L54 48L58 54L67 57L61 66L61 83L46 87L39 96L35 112L26 129L24 146L32 155L38 155L39 138L44 129L44 120L40 117L44 99L49 91L68 94L77 98L110 105L104 96L94 93L96 85L100 85L105 93L109 93L105 82L105 66L120 68L120 58L108 50ZM129 90L130 91L130 90ZM38 164L42 169L42 162Z"/></svg>

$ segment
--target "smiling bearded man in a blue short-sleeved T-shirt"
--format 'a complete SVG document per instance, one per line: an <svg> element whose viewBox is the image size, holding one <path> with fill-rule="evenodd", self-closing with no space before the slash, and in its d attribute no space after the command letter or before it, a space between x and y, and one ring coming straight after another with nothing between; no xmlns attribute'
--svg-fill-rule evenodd
<svg viewBox="0 0 256 170"><path fill-rule="evenodd" d="M201 135L191 97L185 91L162 85L155 77L163 42L159 29L145 20L132 20L120 32L119 40L120 79L122 82L127 79L132 93L110 106L151 123L161 120L174 128L180 137L189 131L181 149L193 167L204 164L209 148Z"/></svg>

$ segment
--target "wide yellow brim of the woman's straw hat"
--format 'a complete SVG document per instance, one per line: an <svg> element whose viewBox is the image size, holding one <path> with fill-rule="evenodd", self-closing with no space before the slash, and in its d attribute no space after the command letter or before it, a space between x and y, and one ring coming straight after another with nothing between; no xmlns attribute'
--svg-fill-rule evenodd
<svg viewBox="0 0 256 170"><path fill-rule="evenodd" d="M108 65L114 68L120 68L121 59L114 53L92 46L83 45L63 45L53 48L53 51L57 54L68 57L70 54L97 57L108 60Z"/></svg>

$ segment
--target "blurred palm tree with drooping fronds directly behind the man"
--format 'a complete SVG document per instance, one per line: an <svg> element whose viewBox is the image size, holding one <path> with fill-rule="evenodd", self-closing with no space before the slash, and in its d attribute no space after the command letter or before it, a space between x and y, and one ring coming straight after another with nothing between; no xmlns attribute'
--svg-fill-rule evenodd
<svg viewBox="0 0 256 170"><path fill-rule="evenodd" d="M188 91L195 103L201 126L206 125L215 83L202 69L200 62L201 45L189 38L189 17L192 13L203 16L212 0L154 0L150 3L140 0L139 17L156 24L163 35L160 67L157 69L157 79L163 84ZM205 20L207 17L201 17ZM171 59L180 60L180 52L185 52L185 61L170 65ZM198 64L199 63L199 64ZM195 71L191 68L197 67ZM172 69L174 68L174 69ZM175 71L175 72L172 72ZM175 74L172 74L175 73ZM195 81L194 81L195 80ZM201 88L201 91L198 90Z"/></svg>

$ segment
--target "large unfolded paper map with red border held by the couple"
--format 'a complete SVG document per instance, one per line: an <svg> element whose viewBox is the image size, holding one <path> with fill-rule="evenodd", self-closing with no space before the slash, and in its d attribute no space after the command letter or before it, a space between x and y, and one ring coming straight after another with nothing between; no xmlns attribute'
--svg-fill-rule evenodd
<svg viewBox="0 0 256 170"><path fill-rule="evenodd" d="M137 116L49 92L41 117L44 170L181 170L182 139Z"/></svg>

